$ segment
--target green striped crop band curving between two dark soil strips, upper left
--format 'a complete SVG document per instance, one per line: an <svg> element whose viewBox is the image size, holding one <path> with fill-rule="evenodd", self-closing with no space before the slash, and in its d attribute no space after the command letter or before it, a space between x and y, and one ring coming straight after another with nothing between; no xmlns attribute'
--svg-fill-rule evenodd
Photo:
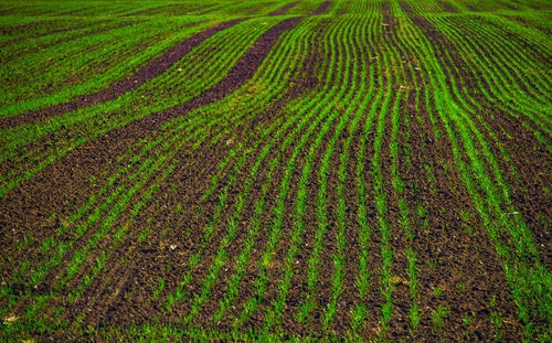
<svg viewBox="0 0 552 343"><path fill-rule="evenodd" d="M3 175L1 192L9 191L19 184L19 182L40 172L59 158L94 137L128 125L152 112L173 107L206 90L219 82L248 49L252 42L264 30L269 28L269 22L268 19L257 19L238 24L229 30L231 31L230 34L233 33L232 40L229 39L229 33L224 31L214 35L205 42L206 45L199 46L188 57L191 61L195 58L203 58L203 61L212 58L213 63L199 64L197 67L185 68L183 67L184 64L177 65L168 71L168 75L173 76L171 82L163 83L166 76L161 75L152 79L151 83L145 84L142 87L129 92L113 101L52 118L47 124L38 122L11 129L11 135L6 135L4 137L6 150L2 153L2 160L13 163L10 158L17 157L17 159L25 160L26 163L18 165L17 169L11 169ZM275 20L272 20L272 22L274 23ZM237 32L243 34L236 34ZM235 49L224 51L215 49L215 46L222 46L221 42L226 42L226 46L232 44L231 46ZM229 63L227 61L232 61L233 63ZM157 90L156 85L159 86L160 84L162 84L162 88ZM162 92L163 97L158 96L159 92ZM138 101L130 103L131 99L138 99ZM44 147L41 143L43 137L49 137L51 141L57 141L57 144L55 147ZM38 143L36 147L33 147L33 142ZM21 153L21 151L24 152Z"/></svg>

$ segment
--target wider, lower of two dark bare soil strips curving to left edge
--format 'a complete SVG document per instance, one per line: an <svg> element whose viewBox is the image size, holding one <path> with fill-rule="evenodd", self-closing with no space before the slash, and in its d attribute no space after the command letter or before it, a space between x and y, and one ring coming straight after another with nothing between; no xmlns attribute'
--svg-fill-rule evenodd
<svg viewBox="0 0 552 343"><path fill-rule="evenodd" d="M282 32L295 26L298 20L300 20L300 18L285 20L280 25L276 25L276 29L273 28L273 30L269 30L266 34L264 34L231 71L229 76L225 77L220 85L213 87L214 89L211 89L211 98L200 99L198 97L193 105L189 106L187 109L190 110L194 107L210 104L215 99L221 99L225 95L237 89L238 86L243 85L248 78L251 78L263 58L267 55L268 51L276 43ZM248 71L251 67L254 67L254 69ZM171 115L181 115L181 111L172 109L168 116L166 114L167 117L162 120L162 122L167 121ZM76 151L65 156L59 161L59 163L55 163L51 168L44 170L36 179L30 180L29 182L22 184L21 187L2 197L2 210L6 210L2 215L2 222L11 227L11 225L18 222L12 221L11 216L14 213L12 210L15 207L33 207L36 208L36 211L31 211L30 217L29 213L25 213L25 218L20 218L19 222L31 224L25 225L26 227L34 226L36 228L39 225L41 228L45 216L50 213L56 213L63 208L68 199L72 204L77 204L78 202L82 202L83 199L86 199L86 196L83 195L88 192L83 192L83 190L91 190L89 183L93 183L91 180L100 178L104 168L112 167L112 159L109 157L123 154L129 143L136 142L139 138L144 138L152 129L159 128L162 122L161 120L150 120L149 125L146 126L144 126L144 122L140 122L141 125L130 125L125 127L124 130L116 130L117 132L112 131L91 142L91 144L83 146L76 149ZM88 165L86 173L75 173L76 170L74 165L83 164ZM49 186L54 186L55 192L51 193L49 191L42 191L49 190ZM38 193L41 196L29 196L34 193ZM81 200L75 203L75 199ZM35 215L32 215L32 213ZM14 234L20 234L19 229L18 233Z"/></svg>

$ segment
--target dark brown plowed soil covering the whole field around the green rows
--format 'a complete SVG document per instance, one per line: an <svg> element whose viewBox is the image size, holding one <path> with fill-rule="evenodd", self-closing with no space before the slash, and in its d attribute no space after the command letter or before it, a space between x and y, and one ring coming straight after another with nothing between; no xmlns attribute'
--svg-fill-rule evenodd
<svg viewBox="0 0 552 343"><path fill-rule="evenodd" d="M299 3L287 3L269 15L285 14ZM450 3L444 1L438 3L449 15L458 14L458 9ZM295 78L288 81L289 87L283 94L270 99L270 106L259 112L247 114L245 119L232 116L221 119L221 122L213 125L209 131L205 130L208 137L200 143L193 140L185 141L176 149L167 164L159 168L150 178L145 178L145 183L128 196L129 205L124 206L128 208L118 215L123 195L112 196L112 192L116 192L119 187L127 190L134 182L141 180L147 169L132 174L135 170L131 167L135 163L138 165L149 160L155 163L163 156L161 148L157 147L144 150L139 159L134 160L132 157L142 151L141 142L156 141L170 135L174 119L180 118L184 121L188 114L223 100L240 90L252 81L265 58L286 33L299 26L302 20L328 13L332 6L332 2L327 1L309 14L283 19L266 30L230 72L200 96L98 135L1 196L0 307L4 308L3 323L0 324L3 325L2 330L8 332L6 328L13 325L10 318L15 318L13 321L21 321L23 329L18 330L25 335L25 339L29 336L41 342L108 341L119 337L119 334L125 340L131 340L136 339L132 336L135 332L141 332L149 340L166 336L169 341L193 340L198 332L205 333L205 336L208 333L216 333L220 334L219 339L229 339L227 334L234 332L237 334L233 336L234 340L238 339L238 334L250 334L250 337L257 339L274 334L278 340L295 337L314 341L329 337L338 341L358 339L390 342L522 341L527 328L519 319L519 308L505 274L503 260L489 238L487 224L478 214L478 204L463 179L455 160L453 142L446 135L444 124L438 119L432 121L435 109L426 106L425 97L431 92L426 87L431 86L431 82L428 74L423 69L424 66L422 69L416 68L416 72L405 73L407 75L405 83L416 84L416 90L403 90L399 88L399 84L390 84L390 81L396 83L396 79L393 81L388 74L381 78L378 78L380 75L376 76L375 88L393 89L393 95L389 99L390 107L402 96L399 104L396 157L393 157L392 151L392 129L396 124L393 122L391 111L384 111L383 105L380 104L374 117L369 117L367 110L359 121L359 127L352 132L348 130L352 117L348 118L347 126L341 132L337 132L339 116L338 119L327 122L328 133L322 137L318 146L311 146L314 137L323 129L326 124L323 119L315 128L307 143L299 149L295 162L289 164L291 167L287 164L294 156L299 138L307 132L310 121L295 132L296 139L288 146L284 146L284 140L294 132L295 124L283 130L278 137L276 131L283 127L285 116L295 115L288 111L288 106L316 96L317 92L325 89L327 81L320 79L318 75L323 72L321 68L327 66L326 62L331 54L331 49L322 46L327 43L323 41L323 29L331 19L320 20L314 25L312 32L316 33L312 34L311 42L306 44L305 58L298 62L297 68L301 73L297 73L294 75ZM128 15L144 15L170 7L156 7ZM550 146L535 139L531 129L538 130L539 127L534 124L524 125L523 119L520 119L524 118L522 114L519 114L518 118L510 116L510 112L514 111L513 107L492 106L477 92L476 87L489 85L485 84L485 81L478 84L481 78L463 60L455 42L452 42L429 20L416 13L408 3L401 1L400 7L432 44L437 61L443 65L457 66L445 69L448 86L452 88L453 83L457 83L460 85L459 88L467 89L466 94L480 104L479 116L474 122L478 127L487 128L481 137L489 142L488 149L497 157L497 170L511 190L512 206L518 208L521 221L530 227L531 239L539 250L540 260L550 272L552 265L550 246L552 236L549 228L552 199L548 190L552 184ZM511 6L508 8L513 9ZM362 52L371 58L370 63L378 63L378 58L388 54L388 49L383 44L392 45L393 52L400 58L405 58L404 61L415 60L412 53L403 50L404 45L394 40L401 32L390 7L384 4L380 12L381 18L375 22L378 28L383 26L383 29L379 31L380 35L375 35L374 44L360 46L354 42L347 46ZM248 19L226 21L194 34L150 61L131 77L120 79L102 92L82 95L73 101L43 110L0 118L0 130L17 130L19 127L35 124L50 116L116 99L163 74L215 33ZM346 46L349 43L331 42L331 44L333 44L331 46L339 44ZM338 47L332 49L338 51ZM340 86L343 89L355 89L359 79L360 77L349 78ZM521 79L518 81L521 83ZM535 96L530 90L527 90L527 95ZM454 95L454 100L461 103L457 95ZM346 105L348 104L343 107ZM340 116L344 116L346 112L337 105L332 110L338 111ZM383 132L378 130L380 121L384 126ZM362 146L364 128L368 135ZM195 129L185 135L197 133ZM456 127L453 129L458 130ZM265 130L268 132L267 136L263 142L256 144ZM442 135L436 135L436 130ZM333 135L336 135L335 149L329 159L327 186L325 185L327 204L325 219L328 225L321 239L322 253L317 268L314 294L315 303L318 306L309 312L304 322L299 322L297 318L309 292L308 261L314 254L317 231L321 225L318 206L319 190L322 185L318 170ZM346 179L341 195L338 192L338 185L342 182L339 176L340 157L346 152L343 143L349 135L352 135L352 140L347 151L349 159L344 162ZM380 138L381 146L379 146ZM184 140L185 137L180 139ZM274 139L274 147L285 148L282 151L278 151L279 148L268 150L258 164L255 176L251 176L250 171L256 165L257 157L263 154L263 149L270 139ZM43 140L47 141L49 138L45 137ZM545 141L550 142L550 138L546 137ZM482 147L476 148L482 150ZM360 194L355 175L359 163L357 157L361 149L364 149L367 157L361 176L368 190L367 203L363 204L368 214L368 227L361 227L358 217ZM511 159L505 157L503 151L508 151ZM312 154L311 160L308 159L309 153ZM372 164L372 158L376 156L379 156L379 170ZM461 159L466 164L470 163L468 157L463 156ZM270 161L278 163L274 167ZM314 167L307 179L306 193L301 193L304 191L300 189L301 175L311 167L307 165L308 161L312 161ZM171 164L173 170L164 174L169 169L169 162L174 162ZM2 163L2 174L7 175L10 167L3 161ZM396 174L393 173L395 167ZM492 170L493 165L484 162L482 168ZM288 174L289 169L291 172ZM110 175L118 172L121 172L120 178L113 181ZM379 195L373 191L374 175L379 172L383 176L381 193L385 201L384 210L378 207ZM287 195L280 200L280 190L286 184L286 175L289 176ZM401 191L397 191L397 185L394 183L397 178L404 183ZM247 183L250 179L251 184ZM299 235L299 244L295 246L293 233L298 225L297 199L300 196L305 196L306 200L304 215L300 218L304 229ZM257 213L256 206L261 199L264 211ZM335 260L340 254L338 238L340 201L346 207L347 222L344 278L336 313L332 322L328 324L326 315L335 291L332 283ZM272 238L269 228L278 216L275 208L282 203L284 206L280 239L274 247L270 261L263 264L264 254ZM407 219L403 216L404 208L401 208L403 203L406 204L410 214ZM106 205L102 210L96 210L100 204ZM132 208L139 211L134 213ZM102 213L99 219L94 219L95 211ZM238 211L240 215L235 215ZM114 219L105 224L103 221L110 215L114 215ZM412 240L405 233L405 221L410 221L410 226L415 232ZM88 228L81 234L73 229L64 229L88 224ZM250 232L257 224L261 225L258 232ZM232 225L237 229L233 239L226 242ZM102 232L104 226L107 227L105 236L96 242L95 235ZM385 244L382 238L383 233L380 231L382 226L389 227L393 255L389 285L382 281L384 275L382 246ZM210 227L213 227L213 232L205 238ZM367 298L361 299L357 276L361 259L360 236L365 229L370 231L367 246L370 251L367 268L369 280ZM118 231L124 231L123 237L117 237ZM146 239L142 238L144 235ZM499 235L506 233L500 232ZM26 242L28 237L32 237L32 240ZM47 253L44 248L47 244L44 242L49 242L51 237L55 237L53 243L55 249L61 251L66 247L66 251L56 262L52 262L54 261L52 256L55 256L57 250ZM222 319L216 319L222 300L230 293L233 278L238 271L237 257L246 248L248 239L253 240L253 245L246 255L243 270L240 270L242 275L235 289L235 297ZM505 238L505 242L513 246L514 243L510 240L509 237ZM223 254L220 253L221 247L225 248ZM286 258L293 248L297 249L291 266L290 286L286 290L280 314L282 321L275 325L267 325L268 313L280 296L280 280L285 277ZM408 271L410 260L406 254L408 249L415 251L417 286L412 285L413 279ZM75 269L74 275L67 277L67 266L71 265L74 255L83 250L86 254L79 267ZM199 259L192 264L195 254ZM103 256L106 258L102 270L99 275L95 275L95 268ZM217 258L223 262L214 276L214 286L208 289L206 280L213 277L213 266ZM52 268L46 269L41 278L36 278L36 282L30 279L29 276L39 274L38 266L47 264L51 264ZM263 278L266 278L266 285L261 296L258 285ZM382 322L381 308L386 302L383 296L386 287L393 289L393 311L392 320L385 324ZM413 290L413 287L416 288ZM193 320L188 323L187 315L195 310L198 299L205 293L209 296L197 308ZM181 299L170 303L171 297ZM247 312L245 306L247 301L257 301L256 309ZM28 315L25 313L30 312L29 309L39 302L40 314L36 317L46 322L51 319L54 324L46 323L40 326L25 317ZM415 329L411 323L413 302L420 310L420 323ZM365 304L370 312L362 319L359 331L353 333L351 318L353 309L359 303ZM440 324L437 323L435 314L437 309L445 309ZM240 328L235 329L237 320L244 313L248 313L248 317ZM499 315L499 325L496 315ZM22 322L23 318L28 322ZM26 329L28 323L31 329ZM544 328L543 332L546 331L546 324L550 325L544 320L537 323ZM163 332L163 329L156 328L170 328L170 330ZM148 330L156 332L156 335L148 336ZM546 337L545 334L542 336Z"/></svg>

